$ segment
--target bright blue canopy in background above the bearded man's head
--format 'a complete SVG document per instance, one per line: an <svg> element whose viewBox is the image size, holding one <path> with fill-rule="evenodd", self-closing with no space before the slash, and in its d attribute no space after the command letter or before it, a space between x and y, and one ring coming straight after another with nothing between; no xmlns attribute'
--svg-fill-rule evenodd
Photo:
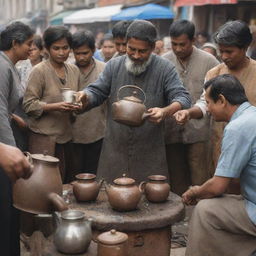
<svg viewBox="0 0 256 256"><path fill-rule="evenodd" d="M174 14L167 7L158 4L145 4L137 7L130 7L113 15L111 20L153 20L153 19L172 19Z"/></svg>

